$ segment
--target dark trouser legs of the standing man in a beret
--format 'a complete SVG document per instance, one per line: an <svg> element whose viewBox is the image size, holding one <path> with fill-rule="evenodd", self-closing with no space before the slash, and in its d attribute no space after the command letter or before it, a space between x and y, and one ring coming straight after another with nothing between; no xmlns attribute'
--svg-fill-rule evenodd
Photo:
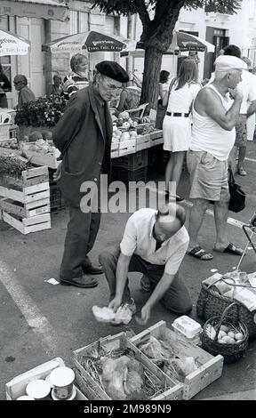
<svg viewBox="0 0 256 418"><path fill-rule="evenodd" d="M60 265L60 279L83 276L90 265L87 253L92 250L100 227L100 213L83 213L80 207L69 207L68 230Z"/></svg>

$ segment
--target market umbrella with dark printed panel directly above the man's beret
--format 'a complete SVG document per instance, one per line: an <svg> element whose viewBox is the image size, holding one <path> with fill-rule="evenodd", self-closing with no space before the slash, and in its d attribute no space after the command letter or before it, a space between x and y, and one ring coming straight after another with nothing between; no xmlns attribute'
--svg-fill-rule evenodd
<svg viewBox="0 0 256 418"><path fill-rule="evenodd" d="M109 36L94 30L68 35L42 45L42 51L52 53L121 52L128 41L122 36Z"/></svg>

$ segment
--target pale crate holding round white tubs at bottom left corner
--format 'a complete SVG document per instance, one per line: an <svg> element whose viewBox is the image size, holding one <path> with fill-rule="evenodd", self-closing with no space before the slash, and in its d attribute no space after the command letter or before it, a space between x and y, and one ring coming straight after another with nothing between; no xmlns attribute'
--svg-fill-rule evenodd
<svg viewBox="0 0 256 418"><path fill-rule="evenodd" d="M20 374L14 377L11 382L5 384L5 395L7 400L16 400L20 396L26 394L26 387L29 382L34 379L45 379L51 372L57 367L65 366L62 358L54 358L47 361L43 365L36 366L26 373ZM76 382L75 382L76 383ZM88 400L85 398L84 393L76 387L76 400Z"/></svg>

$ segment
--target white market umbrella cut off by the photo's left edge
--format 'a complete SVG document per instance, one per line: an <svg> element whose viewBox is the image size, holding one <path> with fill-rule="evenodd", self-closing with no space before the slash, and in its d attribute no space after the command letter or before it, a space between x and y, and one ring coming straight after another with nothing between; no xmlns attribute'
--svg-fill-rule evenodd
<svg viewBox="0 0 256 418"><path fill-rule="evenodd" d="M0 56L26 55L30 42L22 36L0 29Z"/></svg>

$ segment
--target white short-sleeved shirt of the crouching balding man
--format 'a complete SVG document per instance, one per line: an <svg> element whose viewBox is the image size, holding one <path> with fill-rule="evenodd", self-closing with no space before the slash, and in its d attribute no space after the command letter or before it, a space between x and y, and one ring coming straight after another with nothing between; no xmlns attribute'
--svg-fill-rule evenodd
<svg viewBox="0 0 256 418"><path fill-rule="evenodd" d="M181 227L156 251L156 239L153 237L155 222L155 209L145 208L133 213L124 229L121 252L128 257L135 253L151 264L165 265L164 272L174 275L188 250L188 231Z"/></svg>

